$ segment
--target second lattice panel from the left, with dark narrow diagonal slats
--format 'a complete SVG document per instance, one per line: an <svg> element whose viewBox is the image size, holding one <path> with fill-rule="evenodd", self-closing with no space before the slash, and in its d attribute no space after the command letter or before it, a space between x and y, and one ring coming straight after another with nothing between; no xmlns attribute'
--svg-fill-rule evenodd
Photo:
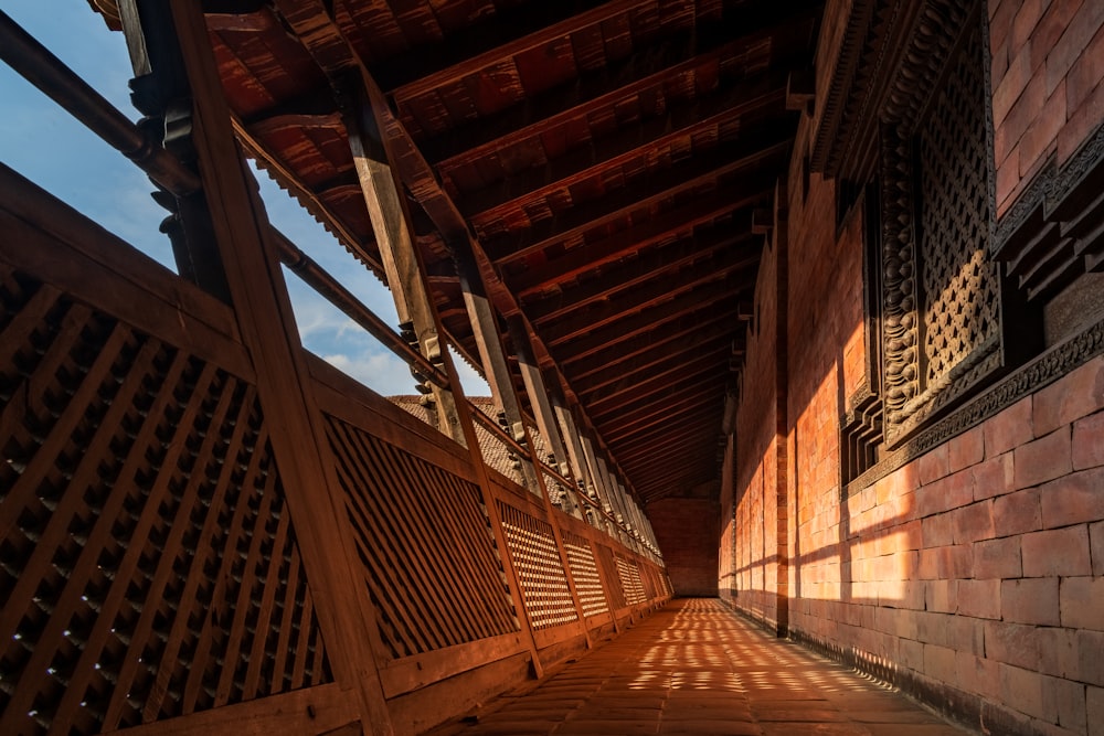
<svg viewBox="0 0 1104 736"><path fill-rule="evenodd" d="M518 631L479 489L344 422L327 427L390 654Z"/></svg>

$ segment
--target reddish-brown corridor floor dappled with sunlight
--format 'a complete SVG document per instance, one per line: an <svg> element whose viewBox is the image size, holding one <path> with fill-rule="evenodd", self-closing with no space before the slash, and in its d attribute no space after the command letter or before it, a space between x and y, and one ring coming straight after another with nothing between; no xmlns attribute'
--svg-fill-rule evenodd
<svg viewBox="0 0 1104 736"><path fill-rule="evenodd" d="M524 692L463 736L962 736L890 687L779 641L715 599L679 599Z"/></svg>

